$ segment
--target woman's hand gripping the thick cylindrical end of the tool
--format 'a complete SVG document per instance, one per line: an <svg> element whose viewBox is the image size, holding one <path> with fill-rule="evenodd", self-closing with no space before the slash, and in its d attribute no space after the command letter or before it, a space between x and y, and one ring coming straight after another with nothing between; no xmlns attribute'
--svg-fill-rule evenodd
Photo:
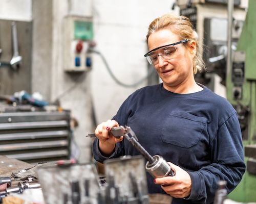
<svg viewBox="0 0 256 204"><path fill-rule="evenodd" d="M175 164L168 162L170 168L175 171L175 176L166 176L154 180L155 184L160 184L162 189L172 197L184 198L190 195L191 178L190 175ZM165 186L166 185L166 186Z"/></svg>

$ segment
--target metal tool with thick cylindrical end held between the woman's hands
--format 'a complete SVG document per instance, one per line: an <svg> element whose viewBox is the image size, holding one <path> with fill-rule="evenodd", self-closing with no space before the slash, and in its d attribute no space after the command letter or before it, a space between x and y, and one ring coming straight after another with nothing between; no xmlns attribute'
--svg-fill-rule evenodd
<svg viewBox="0 0 256 204"><path fill-rule="evenodd" d="M132 145L140 152L140 154L147 160L146 171L154 178L165 176L174 176L175 172L170 165L159 155L151 156L143 146L138 142L138 138L129 126L112 127L110 130L114 137L120 138L124 136ZM89 134L87 137L96 137L95 134Z"/></svg>

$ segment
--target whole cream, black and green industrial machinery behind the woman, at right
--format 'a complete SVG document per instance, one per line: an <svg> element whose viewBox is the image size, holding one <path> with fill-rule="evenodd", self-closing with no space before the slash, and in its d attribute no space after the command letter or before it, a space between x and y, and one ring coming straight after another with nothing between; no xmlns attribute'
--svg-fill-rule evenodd
<svg viewBox="0 0 256 204"><path fill-rule="evenodd" d="M204 44L199 52L208 71L197 74L196 80L217 93L216 86L224 85L223 96L238 113L246 173L228 197L240 202L256 201L256 3L253 0L248 3L246 10L243 0L178 1L180 13L190 17L199 42ZM216 75L221 84L216 83Z"/></svg>

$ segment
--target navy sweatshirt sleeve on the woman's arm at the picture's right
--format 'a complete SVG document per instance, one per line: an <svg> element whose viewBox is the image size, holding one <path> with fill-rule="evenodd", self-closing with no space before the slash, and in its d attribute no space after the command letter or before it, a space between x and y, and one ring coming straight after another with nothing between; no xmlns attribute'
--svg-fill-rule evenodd
<svg viewBox="0 0 256 204"><path fill-rule="evenodd" d="M237 114L234 113L223 124L210 142L211 165L198 171L188 172L192 188L190 199L195 203L211 203L220 180L227 182L231 192L241 181L245 172L242 135Z"/></svg>

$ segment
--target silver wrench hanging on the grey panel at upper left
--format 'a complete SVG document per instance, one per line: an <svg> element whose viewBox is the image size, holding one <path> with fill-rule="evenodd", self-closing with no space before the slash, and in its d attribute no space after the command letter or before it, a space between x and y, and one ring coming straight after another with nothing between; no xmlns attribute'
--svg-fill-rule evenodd
<svg viewBox="0 0 256 204"><path fill-rule="evenodd" d="M12 22L11 30L12 30L13 56L10 61L10 65L14 70L16 70L17 68L19 68L20 62L22 61L22 56L19 56L18 54L18 38L17 38L16 22Z"/></svg>

